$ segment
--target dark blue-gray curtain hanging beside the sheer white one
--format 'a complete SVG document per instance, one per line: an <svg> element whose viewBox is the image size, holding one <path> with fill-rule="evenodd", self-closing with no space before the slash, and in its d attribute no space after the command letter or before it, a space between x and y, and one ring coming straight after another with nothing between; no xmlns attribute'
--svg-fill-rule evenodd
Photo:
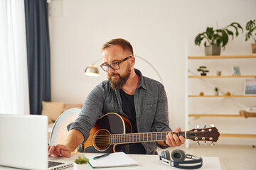
<svg viewBox="0 0 256 170"><path fill-rule="evenodd" d="M50 40L46 0L25 0L28 86L31 114L50 101Z"/></svg>

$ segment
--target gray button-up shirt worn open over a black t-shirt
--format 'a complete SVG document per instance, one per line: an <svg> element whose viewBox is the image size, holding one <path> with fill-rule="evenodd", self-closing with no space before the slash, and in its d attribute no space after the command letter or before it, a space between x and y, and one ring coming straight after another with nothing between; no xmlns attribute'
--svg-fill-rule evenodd
<svg viewBox="0 0 256 170"><path fill-rule="evenodd" d="M142 76L138 69L134 70L139 75L139 86L134 93L138 132L171 131L164 86L158 81ZM79 130L86 141L97 118L112 112L127 117L122 111L119 90L111 89L110 81L105 80L92 89L82 106L80 115L74 123L68 125L68 130ZM143 142L142 145L146 149L146 154L157 154L156 142Z"/></svg>

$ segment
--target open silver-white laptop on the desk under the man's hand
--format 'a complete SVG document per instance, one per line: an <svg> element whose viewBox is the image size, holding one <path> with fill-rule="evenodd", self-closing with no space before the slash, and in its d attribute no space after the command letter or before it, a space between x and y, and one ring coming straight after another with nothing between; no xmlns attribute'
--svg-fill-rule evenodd
<svg viewBox="0 0 256 170"><path fill-rule="evenodd" d="M48 159L55 159L51 162L58 165L48 167ZM46 115L0 114L0 166L19 169L63 169L73 166L73 160L48 158Z"/></svg>

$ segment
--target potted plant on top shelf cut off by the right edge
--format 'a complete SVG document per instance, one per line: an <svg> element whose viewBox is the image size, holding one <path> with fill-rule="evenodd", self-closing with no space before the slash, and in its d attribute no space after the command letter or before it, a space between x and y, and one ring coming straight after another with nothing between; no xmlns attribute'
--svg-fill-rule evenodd
<svg viewBox="0 0 256 170"><path fill-rule="evenodd" d="M255 20L248 21L246 23L245 29L248 31L245 34L245 41L249 40L252 37L252 39L255 41L255 43L252 43L252 54L256 54L256 24L255 24ZM253 32L255 32L255 35Z"/></svg>

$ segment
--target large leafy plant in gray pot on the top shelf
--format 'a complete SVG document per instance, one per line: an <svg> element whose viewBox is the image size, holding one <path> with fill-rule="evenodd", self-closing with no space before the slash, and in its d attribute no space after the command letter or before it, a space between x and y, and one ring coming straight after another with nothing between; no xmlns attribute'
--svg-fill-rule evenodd
<svg viewBox="0 0 256 170"><path fill-rule="evenodd" d="M200 46L202 40L204 42L206 55L220 55L220 49L223 47L225 50L225 45L228 44L228 36L234 38L234 33L230 28L235 28L235 36L239 35L238 28L243 32L242 26L239 23L231 23L222 29L213 30L212 27L206 28L206 32L199 33L195 38L195 44Z"/></svg>

